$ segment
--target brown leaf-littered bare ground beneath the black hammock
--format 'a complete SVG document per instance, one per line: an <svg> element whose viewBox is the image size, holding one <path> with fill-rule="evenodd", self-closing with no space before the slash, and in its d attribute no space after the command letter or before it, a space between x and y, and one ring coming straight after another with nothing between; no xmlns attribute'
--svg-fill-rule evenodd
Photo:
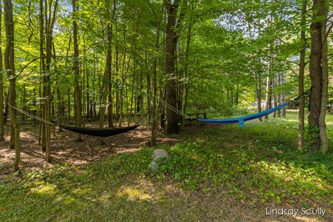
<svg viewBox="0 0 333 222"><path fill-rule="evenodd" d="M126 125L123 125L126 126ZM93 127L93 126L87 126ZM132 153L140 146L148 144L151 132L144 126L139 126L128 133L104 138L103 145L99 137L83 135L83 141L76 142L76 133L68 130L51 133L51 163L45 162L45 152L38 144L39 125L22 126L20 134L21 142L21 162L22 169L42 168L49 164L68 163L75 166L83 166L89 162L103 160L115 153ZM9 134L6 133L5 141L0 142L0 175L8 174L12 171L12 161L15 151L9 148ZM171 139L159 133L158 144L175 144L178 140Z"/></svg>

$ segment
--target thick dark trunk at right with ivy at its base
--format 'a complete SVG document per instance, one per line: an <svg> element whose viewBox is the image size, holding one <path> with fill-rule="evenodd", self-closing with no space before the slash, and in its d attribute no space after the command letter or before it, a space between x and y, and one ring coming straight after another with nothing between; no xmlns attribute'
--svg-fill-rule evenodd
<svg viewBox="0 0 333 222"><path fill-rule="evenodd" d="M321 67L321 55L323 41L321 37L322 22L320 18L323 14L323 0L313 0L313 15L311 23L311 54L309 62L309 71L311 78L311 98L309 113L309 146L311 151L318 151L321 146L319 136L319 115L321 113L321 97L323 89L323 74Z"/></svg>

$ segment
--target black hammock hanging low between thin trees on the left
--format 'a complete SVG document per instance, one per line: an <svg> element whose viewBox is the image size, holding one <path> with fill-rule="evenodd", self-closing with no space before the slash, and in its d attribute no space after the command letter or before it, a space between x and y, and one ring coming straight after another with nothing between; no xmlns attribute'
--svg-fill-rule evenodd
<svg viewBox="0 0 333 222"><path fill-rule="evenodd" d="M118 135L121 133L126 133L130 130L137 128L139 124L128 127L119 127L119 128L80 128L74 126L61 126L65 130L72 131L74 133L80 133L84 135L94 136L94 137L110 137Z"/></svg>

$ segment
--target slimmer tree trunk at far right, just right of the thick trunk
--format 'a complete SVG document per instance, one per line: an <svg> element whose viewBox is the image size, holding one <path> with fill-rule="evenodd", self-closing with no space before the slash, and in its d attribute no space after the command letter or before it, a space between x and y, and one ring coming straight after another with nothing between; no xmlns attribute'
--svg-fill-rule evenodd
<svg viewBox="0 0 333 222"><path fill-rule="evenodd" d="M326 123L325 117L327 113L327 98L328 98L328 67L327 67L327 34L326 34L326 26L327 26L327 14L328 14L328 0L323 0L323 15L325 19L323 19L321 26L321 40L323 50L321 52L321 71L323 75L323 91L321 94L321 113L319 114L319 133L321 135L321 145L323 153L327 153L328 151L328 137L326 133Z"/></svg>

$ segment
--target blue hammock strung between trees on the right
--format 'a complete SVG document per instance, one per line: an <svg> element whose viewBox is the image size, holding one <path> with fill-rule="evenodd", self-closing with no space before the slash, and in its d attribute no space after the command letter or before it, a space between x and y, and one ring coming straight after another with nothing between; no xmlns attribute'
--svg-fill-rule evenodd
<svg viewBox="0 0 333 222"><path fill-rule="evenodd" d="M250 115L244 116L244 117L237 117L237 118L232 118L232 119L197 119L197 120L198 121L203 121L203 122L206 122L206 123L218 123L218 124L238 123L239 127L244 127L244 122L245 121L250 121L250 120L253 120L253 119L257 119L259 117L264 117L267 114L270 114L272 112L280 110L280 109L284 108L287 105L288 105L288 103L283 103L282 105L279 105L279 106L277 106L275 108L272 108L270 110L265 110L263 112L250 114Z"/></svg>

